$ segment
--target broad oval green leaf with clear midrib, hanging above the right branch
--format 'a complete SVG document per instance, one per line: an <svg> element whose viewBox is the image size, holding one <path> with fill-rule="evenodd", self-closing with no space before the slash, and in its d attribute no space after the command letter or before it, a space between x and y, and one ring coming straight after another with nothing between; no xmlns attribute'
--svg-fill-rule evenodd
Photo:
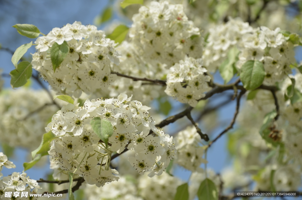
<svg viewBox="0 0 302 200"><path fill-rule="evenodd" d="M258 88L265 77L263 63L258 60L248 60L241 67L240 79L247 90Z"/></svg>

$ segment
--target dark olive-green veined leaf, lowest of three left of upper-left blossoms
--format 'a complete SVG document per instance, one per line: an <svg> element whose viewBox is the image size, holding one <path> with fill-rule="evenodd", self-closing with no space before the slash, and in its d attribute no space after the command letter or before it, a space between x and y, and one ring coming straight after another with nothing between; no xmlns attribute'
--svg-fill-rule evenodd
<svg viewBox="0 0 302 200"><path fill-rule="evenodd" d="M17 69L12 70L11 75L11 87L18 88L26 84L27 79L31 78L31 63L22 61L18 64Z"/></svg>

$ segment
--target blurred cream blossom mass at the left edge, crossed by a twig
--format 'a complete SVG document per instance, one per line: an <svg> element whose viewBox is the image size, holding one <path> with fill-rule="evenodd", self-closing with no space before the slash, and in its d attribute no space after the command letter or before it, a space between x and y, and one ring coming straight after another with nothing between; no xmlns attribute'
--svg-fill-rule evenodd
<svg viewBox="0 0 302 200"><path fill-rule="evenodd" d="M0 102L1 143L34 150L41 143L47 121L57 111L47 92L26 88L3 91Z"/></svg>

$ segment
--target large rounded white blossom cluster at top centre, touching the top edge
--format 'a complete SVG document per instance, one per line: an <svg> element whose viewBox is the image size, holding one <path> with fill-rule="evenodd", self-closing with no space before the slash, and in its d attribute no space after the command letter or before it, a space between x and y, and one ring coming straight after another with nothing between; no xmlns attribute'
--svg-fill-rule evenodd
<svg viewBox="0 0 302 200"><path fill-rule="evenodd" d="M162 63L170 67L185 55L196 58L202 52L200 31L188 20L183 5L152 1L132 20L129 37L140 56L153 66Z"/></svg>

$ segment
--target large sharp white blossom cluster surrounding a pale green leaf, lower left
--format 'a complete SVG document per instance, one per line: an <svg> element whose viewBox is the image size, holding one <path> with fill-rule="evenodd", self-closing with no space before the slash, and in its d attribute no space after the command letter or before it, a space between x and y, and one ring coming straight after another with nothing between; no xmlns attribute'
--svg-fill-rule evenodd
<svg viewBox="0 0 302 200"><path fill-rule="evenodd" d="M125 94L117 99L87 99L82 107L63 106L46 127L56 136L49 154L59 168L74 171L98 187L118 179L112 175L118 172L109 169L111 154L122 153L126 146L135 151L135 157L128 160L140 174L151 171L149 176L160 175L176 150L172 137L154 126L149 109ZM95 117L107 119L113 126L109 147L92 130L90 121ZM156 137L149 135L150 129Z"/></svg>

